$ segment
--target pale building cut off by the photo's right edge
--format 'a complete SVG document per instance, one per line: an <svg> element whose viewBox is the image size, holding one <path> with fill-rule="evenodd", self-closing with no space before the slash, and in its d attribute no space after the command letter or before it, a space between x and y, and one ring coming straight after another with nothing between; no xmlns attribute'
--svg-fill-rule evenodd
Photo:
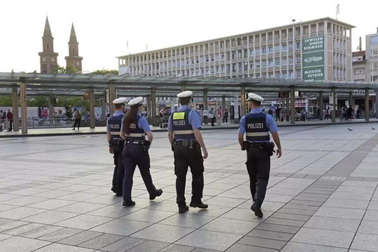
<svg viewBox="0 0 378 252"><path fill-rule="evenodd" d="M378 82L378 28L375 34L366 35L366 81Z"/></svg>

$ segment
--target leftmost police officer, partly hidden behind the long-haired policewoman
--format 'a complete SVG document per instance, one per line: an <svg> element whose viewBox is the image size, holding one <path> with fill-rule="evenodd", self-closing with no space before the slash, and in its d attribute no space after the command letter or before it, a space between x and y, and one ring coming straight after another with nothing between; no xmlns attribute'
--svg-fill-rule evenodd
<svg viewBox="0 0 378 252"><path fill-rule="evenodd" d="M121 130L121 121L123 118L124 104L126 98L121 97L113 100L115 112L106 121L107 141L109 142L109 153L112 153L114 159L114 172L111 190L116 196L122 196L122 183L124 167L122 164L123 140L119 136Z"/></svg>

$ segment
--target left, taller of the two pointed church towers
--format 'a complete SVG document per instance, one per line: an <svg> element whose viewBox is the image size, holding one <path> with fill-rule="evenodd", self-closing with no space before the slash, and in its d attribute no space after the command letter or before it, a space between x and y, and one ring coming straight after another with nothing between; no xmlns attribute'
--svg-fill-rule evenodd
<svg viewBox="0 0 378 252"><path fill-rule="evenodd" d="M42 37L43 51L39 52L41 73L52 73L57 66L58 53L54 52L54 38L51 34L49 19L46 16Z"/></svg>

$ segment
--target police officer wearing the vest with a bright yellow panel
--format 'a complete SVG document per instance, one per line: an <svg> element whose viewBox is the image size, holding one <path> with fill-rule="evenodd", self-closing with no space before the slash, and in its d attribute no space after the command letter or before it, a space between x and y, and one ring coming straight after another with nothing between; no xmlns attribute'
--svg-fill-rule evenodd
<svg viewBox="0 0 378 252"><path fill-rule="evenodd" d="M173 112L168 122L168 138L174 152L176 193L179 213L189 210L185 202L185 182L188 166L192 173L192 200L191 207L207 208L203 204L203 160L207 158L207 150L200 133L201 121L196 110L189 107L192 91L179 93L181 107ZM203 156L201 154L201 148Z"/></svg>

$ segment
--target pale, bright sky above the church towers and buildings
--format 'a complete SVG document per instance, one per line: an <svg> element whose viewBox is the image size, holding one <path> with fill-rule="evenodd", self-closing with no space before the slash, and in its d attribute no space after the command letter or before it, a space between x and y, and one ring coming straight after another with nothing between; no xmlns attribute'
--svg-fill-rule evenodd
<svg viewBox="0 0 378 252"><path fill-rule="evenodd" d="M0 7L0 72L40 72L38 52L48 15L58 64L65 66L71 23L74 23L83 59L83 71L117 69L116 56L193 43L202 40L288 25L335 18L354 25L352 49L362 37L376 33L378 1L246 1L233 0L13 0ZM270 9L272 8L272 9ZM129 50L127 48L129 41Z"/></svg>

